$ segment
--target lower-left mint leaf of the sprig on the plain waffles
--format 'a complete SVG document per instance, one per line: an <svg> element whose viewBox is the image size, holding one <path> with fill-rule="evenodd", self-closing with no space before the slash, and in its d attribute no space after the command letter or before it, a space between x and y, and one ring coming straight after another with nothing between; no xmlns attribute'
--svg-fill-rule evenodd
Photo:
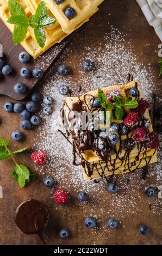
<svg viewBox="0 0 162 256"><path fill-rule="evenodd" d="M20 44L20 42L22 42L26 38L27 32L27 26L16 25L13 33L14 44Z"/></svg>

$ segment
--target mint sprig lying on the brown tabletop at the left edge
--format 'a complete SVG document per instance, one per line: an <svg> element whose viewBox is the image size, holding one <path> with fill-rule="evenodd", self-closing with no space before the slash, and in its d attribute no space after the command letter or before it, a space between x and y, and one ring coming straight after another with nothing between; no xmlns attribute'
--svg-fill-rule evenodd
<svg viewBox="0 0 162 256"><path fill-rule="evenodd" d="M5 160L8 157L11 157L15 163L15 168L12 172L13 178L18 182L20 187L24 187L27 182L36 179L35 174L30 174L28 168L23 164L18 164L14 158L14 154L22 153L27 150L26 148L15 150L10 152L9 142L0 137L0 160Z"/></svg>

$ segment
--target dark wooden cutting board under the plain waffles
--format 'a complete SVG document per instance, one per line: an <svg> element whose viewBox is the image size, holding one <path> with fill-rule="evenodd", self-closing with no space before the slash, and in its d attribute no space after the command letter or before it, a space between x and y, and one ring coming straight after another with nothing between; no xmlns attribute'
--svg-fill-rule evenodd
<svg viewBox="0 0 162 256"><path fill-rule="evenodd" d="M13 35L1 20L0 27L0 44L3 47L3 60L5 64L10 64L13 68L11 75L2 75L0 78L0 94L10 96L14 100L23 100L28 96L31 90L33 90L36 84L38 84L39 80L32 76L28 79L22 78L20 76L21 68L27 66L32 71L35 67L39 67L43 69L45 74L50 66L55 62L55 60L59 58L60 54L63 53L64 49L71 41L74 33L64 39L60 44L56 44L51 47L47 52L43 53L36 60L31 58L29 63L23 64L18 60L18 54L24 51L23 47L21 45L15 46L13 44ZM14 92L14 85L17 82L26 84L27 91L25 94L21 95Z"/></svg>

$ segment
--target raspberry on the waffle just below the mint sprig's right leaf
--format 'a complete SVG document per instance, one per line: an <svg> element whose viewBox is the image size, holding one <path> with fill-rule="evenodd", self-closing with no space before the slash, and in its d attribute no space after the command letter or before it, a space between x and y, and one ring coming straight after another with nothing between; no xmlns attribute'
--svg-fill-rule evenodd
<svg viewBox="0 0 162 256"><path fill-rule="evenodd" d="M128 128L131 128L131 129L141 126L142 120L140 115L136 112L129 113L127 117L124 118L124 125L126 125Z"/></svg>

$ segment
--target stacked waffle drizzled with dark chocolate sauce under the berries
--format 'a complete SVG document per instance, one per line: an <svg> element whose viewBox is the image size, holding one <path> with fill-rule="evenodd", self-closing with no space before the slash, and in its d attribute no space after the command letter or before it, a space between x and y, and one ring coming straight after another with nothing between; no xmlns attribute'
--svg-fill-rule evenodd
<svg viewBox="0 0 162 256"><path fill-rule="evenodd" d="M138 96L133 97L130 95L129 91L131 88L138 89ZM106 95L109 95L113 90L119 92L122 97L122 101L129 97L132 100L135 99L137 101L144 99L139 80L132 81L122 86L103 88L103 92ZM83 175L85 179L92 180L113 174L133 172L137 168L144 166L147 167L148 164L157 162L158 138L153 132L148 108L145 109L144 113L142 113L141 109L139 109L140 106L138 106L138 111L141 112L141 114L139 114L139 120L134 126L127 127L127 134L122 135L121 129L115 132L119 138L119 141L115 145L113 145L108 138L111 131L108 132L108 136L102 137L99 130L93 131L91 129L87 129L82 131L81 125L78 127L80 124L80 114L78 114L78 118L74 120L76 117L73 112L99 112L102 108L100 107L96 109L92 107L90 103L92 99L94 100L97 97L98 90L86 93L80 97L67 97L64 100L63 106L64 123L66 119L68 124L68 128L66 127L67 135L71 135L73 139L74 159L76 159L77 154L83 167ZM128 109L124 107L126 117L123 117L121 120L117 120L113 113L114 110L112 109L110 121L116 122L121 127L124 122L126 123L125 118L128 117L129 113L137 112L136 110L137 108ZM147 121L149 125L144 125L145 121ZM72 124L74 124L73 129ZM134 131L138 127L145 127L145 141L143 140L141 142L138 138L135 138ZM99 150L99 141L104 144L103 150Z"/></svg>

